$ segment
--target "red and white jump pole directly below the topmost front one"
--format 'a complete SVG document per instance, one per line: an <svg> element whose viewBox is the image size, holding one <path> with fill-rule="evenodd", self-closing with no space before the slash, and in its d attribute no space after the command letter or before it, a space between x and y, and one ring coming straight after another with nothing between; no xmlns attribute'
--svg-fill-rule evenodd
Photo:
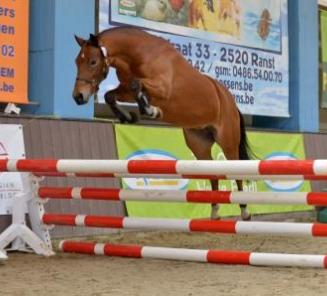
<svg viewBox="0 0 327 296"><path fill-rule="evenodd" d="M118 188L40 187L40 198L165 201L225 204L298 204L327 206L327 193L128 190Z"/></svg>

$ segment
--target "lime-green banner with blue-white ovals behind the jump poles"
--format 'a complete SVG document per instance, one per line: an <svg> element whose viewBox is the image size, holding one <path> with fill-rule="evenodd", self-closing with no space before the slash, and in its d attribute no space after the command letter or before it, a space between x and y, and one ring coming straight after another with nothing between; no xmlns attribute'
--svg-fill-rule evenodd
<svg viewBox="0 0 327 296"><path fill-rule="evenodd" d="M116 140L119 159L195 159L186 147L183 133L178 128L143 127L116 125ZM279 134L249 132L249 143L260 159L305 159L303 136L300 134ZM217 145L212 155L216 160L224 159ZM237 190L235 181L220 181L221 190ZM190 189L210 190L206 180L124 178L123 187L131 189ZM310 183L303 181L248 181L246 191L310 191ZM305 206L250 205L253 214L289 212L310 209ZM209 217L210 205L162 202L127 202L129 216L138 217ZM239 215L237 205L221 205L221 216Z"/></svg>

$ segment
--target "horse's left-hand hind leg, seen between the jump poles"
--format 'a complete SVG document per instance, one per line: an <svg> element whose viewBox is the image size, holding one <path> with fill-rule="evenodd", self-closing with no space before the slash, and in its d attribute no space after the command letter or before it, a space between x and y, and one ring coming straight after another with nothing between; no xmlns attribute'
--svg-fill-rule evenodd
<svg viewBox="0 0 327 296"><path fill-rule="evenodd" d="M186 145L198 160L212 160L211 147L214 138L209 129L183 129ZM218 180L210 180L211 189L218 190ZM219 205L211 204L211 219L219 219Z"/></svg>

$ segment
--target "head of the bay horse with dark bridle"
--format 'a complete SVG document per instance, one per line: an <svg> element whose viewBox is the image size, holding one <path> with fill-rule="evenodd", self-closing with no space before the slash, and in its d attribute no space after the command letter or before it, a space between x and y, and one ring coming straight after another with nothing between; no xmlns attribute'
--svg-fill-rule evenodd
<svg viewBox="0 0 327 296"><path fill-rule="evenodd" d="M81 50L75 59L77 76L73 98L78 105L86 104L98 91L100 83L107 77L109 62L107 49L99 45L98 39L90 34L89 40L75 36Z"/></svg>

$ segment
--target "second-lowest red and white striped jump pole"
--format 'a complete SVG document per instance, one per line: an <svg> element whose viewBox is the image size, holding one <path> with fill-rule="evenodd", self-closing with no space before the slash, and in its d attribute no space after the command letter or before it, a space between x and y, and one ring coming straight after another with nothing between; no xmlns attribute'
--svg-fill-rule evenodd
<svg viewBox="0 0 327 296"><path fill-rule="evenodd" d="M70 225L142 230L177 230L186 232L265 234L283 236L327 236L327 225L320 223L131 218L48 213L42 216L42 222L46 225Z"/></svg>

